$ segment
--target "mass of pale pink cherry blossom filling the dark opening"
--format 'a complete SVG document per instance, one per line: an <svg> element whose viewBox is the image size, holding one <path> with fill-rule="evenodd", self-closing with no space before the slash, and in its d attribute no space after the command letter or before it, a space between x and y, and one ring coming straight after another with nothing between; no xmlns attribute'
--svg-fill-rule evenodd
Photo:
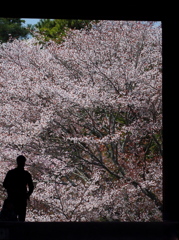
<svg viewBox="0 0 179 240"><path fill-rule="evenodd" d="M27 221L162 220L161 31L100 21L0 44L0 178L27 157Z"/></svg>

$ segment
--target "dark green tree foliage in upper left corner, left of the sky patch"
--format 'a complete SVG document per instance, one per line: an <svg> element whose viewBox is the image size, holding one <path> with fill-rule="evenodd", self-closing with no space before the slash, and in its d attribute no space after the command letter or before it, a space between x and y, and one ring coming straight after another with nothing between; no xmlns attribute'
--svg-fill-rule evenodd
<svg viewBox="0 0 179 240"><path fill-rule="evenodd" d="M0 18L0 41L7 42L9 38L26 38L29 30L22 26L20 18Z"/></svg>

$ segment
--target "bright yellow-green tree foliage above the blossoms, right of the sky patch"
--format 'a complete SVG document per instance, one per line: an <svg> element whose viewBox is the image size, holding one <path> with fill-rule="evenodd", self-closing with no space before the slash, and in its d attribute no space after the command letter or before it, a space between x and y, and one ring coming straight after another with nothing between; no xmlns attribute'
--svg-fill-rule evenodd
<svg viewBox="0 0 179 240"><path fill-rule="evenodd" d="M86 27L89 30L96 22L78 19L41 19L35 27L45 37L45 41L53 40L61 43L69 29L79 30Z"/></svg>

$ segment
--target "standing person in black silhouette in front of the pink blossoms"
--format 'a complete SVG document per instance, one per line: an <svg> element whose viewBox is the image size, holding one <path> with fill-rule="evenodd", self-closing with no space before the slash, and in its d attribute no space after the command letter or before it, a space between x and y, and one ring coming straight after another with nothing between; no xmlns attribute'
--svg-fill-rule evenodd
<svg viewBox="0 0 179 240"><path fill-rule="evenodd" d="M17 168L10 170L3 182L7 190L8 201L13 204L18 221L25 221L27 199L34 190L31 174L24 170L26 158L17 157ZM27 191L28 186L28 191Z"/></svg>

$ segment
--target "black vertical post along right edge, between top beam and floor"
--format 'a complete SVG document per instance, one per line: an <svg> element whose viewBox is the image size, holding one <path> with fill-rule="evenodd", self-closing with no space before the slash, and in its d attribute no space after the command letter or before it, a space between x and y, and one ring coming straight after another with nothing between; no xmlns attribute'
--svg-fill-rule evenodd
<svg viewBox="0 0 179 240"><path fill-rule="evenodd" d="M162 22L163 31L163 220L179 220L179 81L177 24L172 16ZM177 45L176 45L177 44Z"/></svg>

